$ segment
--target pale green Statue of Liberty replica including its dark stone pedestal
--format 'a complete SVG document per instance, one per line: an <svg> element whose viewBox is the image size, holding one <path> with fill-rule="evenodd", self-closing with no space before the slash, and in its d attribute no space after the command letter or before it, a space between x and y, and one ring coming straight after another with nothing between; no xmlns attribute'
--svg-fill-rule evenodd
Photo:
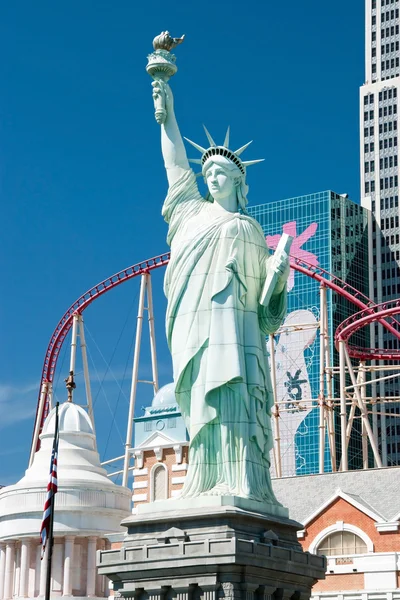
<svg viewBox="0 0 400 600"><path fill-rule="evenodd" d="M259 161L242 160L248 144L232 150L229 132L222 145L207 130L206 147L190 142L208 188L200 194L167 83L181 41L155 38L147 71L169 183L166 326L189 469L180 498L134 507L122 548L99 553L98 573L133 600L307 600L326 560L303 552L303 526L269 474L265 336L285 316L290 239L270 255L246 212L247 168Z"/></svg>

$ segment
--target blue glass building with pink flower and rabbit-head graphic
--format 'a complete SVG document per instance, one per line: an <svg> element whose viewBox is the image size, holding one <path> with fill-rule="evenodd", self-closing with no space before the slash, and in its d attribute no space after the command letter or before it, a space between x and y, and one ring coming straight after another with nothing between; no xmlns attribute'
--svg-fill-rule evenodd
<svg viewBox="0 0 400 600"><path fill-rule="evenodd" d="M346 196L324 191L250 206L248 210L261 224L270 247L276 247L285 231L294 236L294 256L319 265L368 294L368 211L360 205ZM292 271L288 316L276 341L277 388L286 407L280 417L283 476L318 473L319 469L319 286L311 277ZM334 332L343 319L354 313L354 307L330 290L327 304L330 353L335 365ZM359 339L358 343L366 344L367 340ZM326 448L325 471L330 471ZM338 446L337 458L340 460ZM361 437L355 431L349 446L349 468L361 465Z"/></svg>

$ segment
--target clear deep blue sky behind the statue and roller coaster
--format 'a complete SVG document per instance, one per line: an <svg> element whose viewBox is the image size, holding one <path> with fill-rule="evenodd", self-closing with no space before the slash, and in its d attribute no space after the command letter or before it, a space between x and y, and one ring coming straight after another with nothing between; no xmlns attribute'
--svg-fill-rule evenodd
<svg viewBox="0 0 400 600"><path fill-rule="evenodd" d="M163 29L186 34L172 81L182 133L205 144L204 123L222 142L230 124L232 146L253 139L246 159L266 159L249 170L251 204L324 189L358 201L363 0L3 2L0 484L26 468L43 357L64 311L98 281L167 248L145 71ZM167 383L161 274L154 287ZM85 316L102 457L122 454L111 412L118 404L124 438L137 292L126 284ZM142 376L148 364L145 353ZM68 357L61 366L62 381ZM139 409L147 397L139 390Z"/></svg>

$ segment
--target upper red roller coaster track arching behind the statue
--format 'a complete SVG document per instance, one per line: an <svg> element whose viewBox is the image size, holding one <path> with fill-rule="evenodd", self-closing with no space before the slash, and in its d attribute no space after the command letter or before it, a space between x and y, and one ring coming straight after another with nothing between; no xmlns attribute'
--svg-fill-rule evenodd
<svg viewBox="0 0 400 600"><path fill-rule="evenodd" d="M46 355L45 355L43 369L42 369L41 385L40 385L40 389L39 389L39 398L38 398L38 405L37 405L36 419L35 419L35 427L36 427L37 420L40 419L40 428L39 428L40 432L42 431L44 420L45 420L45 418L48 414L48 410L49 410L49 397L48 397L48 393L46 392L46 397L45 397L45 401L43 404L43 411L42 411L42 414L39 414L41 391L42 391L44 385L46 387L48 387L48 385L52 384L54 381L54 373L55 373L56 366L57 366L57 360L58 360L62 345L64 343L64 340L65 340L69 330L71 329L74 314L77 314L77 313L82 314L83 311L92 302L94 302L94 300L96 300L97 298L99 298L100 296L105 294L106 292L112 290L113 288L117 287L121 283L124 283L125 281L129 281L130 279L133 279L134 277L137 277L144 273L148 273L154 269L158 269L159 267L166 266L169 262L169 258L170 258L169 253L160 254L160 256L150 258L143 262L132 265L131 267L128 267L127 269L123 269L119 273L115 273L115 275L108 277L104 281L102 281L102 282L98 283L97 285L95 285L94 287L92 287L85 294L80 296L69 307L69 309L63 315L63 317L60 319L57 327L55 328L55 330L53 332L53 335L50 338L50 342L49 342L49 345L46 350ZM294 257L291 257L291 267L295 271L298 271L299 273L303 273L304 275L307 275L308 277L311 277L311 278L315 279L316 281L320 282L321 285L324 285L324 286L330 288L331 290L337 292L338 294L340 294L341 296L346 298L349 302L353 303L355 306L362 309L361 313L357 313L357 315L359 315L359 318L366 319L368 323L372 322L372 321L379 321L395 337L400 339L400 331L398 331L396 329L396 327L393 325L393 324L396 324L397 326L399 326L397 321L394 319L394 315L400 311L400 308L397 308L397 313L395 310L392 310L389 312L385 311L385 312L380 313L379 311L376 311L378 306L375 305L372 302L372 300L370 300L370 298L368 298L367 296L362 294L359 290L355 289L348 283L345 283L338 277L335 277L332 274L328 273L324 269L314 266L314 265L311 265L301 259L294 258ZM357 316L357 315L354 315L354 316ZM385 321L384 317L389 317L390 322ZM354 326L354 324L355 323L352 322L353 326ZM349 326L350 326L350 324L349 324ZM364 325L361 325L361 326L364 326ZM353 327L353 329L354 329L354 327ZM344 331L342 331L342 334L343 333L344 333ZM350 333L350 335L352 335L352 333L354 333L354 331L352 331ZM348 338L346 338L346 339L348 339ZM361 351L361 349L357 349L357 350ZM363 356L365 357L365 359L371 358L370 352L373 351L372 349L363 349L363 351L364 351ZM378 351L375 350L375 352L378 352ZM384 351L382 351L382 352L384 352ZM399 357L400 354L397 354L396 356ZM357 358L361 358L361 357L357 356ZM387 358L386 355L385 355L385 358ZM40 447L40 442L38 442L36 450L39 447Z"/></svg>

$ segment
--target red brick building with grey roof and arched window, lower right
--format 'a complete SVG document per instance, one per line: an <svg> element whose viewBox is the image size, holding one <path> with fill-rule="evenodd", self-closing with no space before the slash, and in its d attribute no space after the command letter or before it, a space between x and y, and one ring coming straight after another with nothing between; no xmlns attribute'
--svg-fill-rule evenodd
<svg viewBox="0 0 400 600"><path fill-rule="evenodd" d="M275 479L304 550L327 556L318 600L400 598L400 468Z"/></svg>

